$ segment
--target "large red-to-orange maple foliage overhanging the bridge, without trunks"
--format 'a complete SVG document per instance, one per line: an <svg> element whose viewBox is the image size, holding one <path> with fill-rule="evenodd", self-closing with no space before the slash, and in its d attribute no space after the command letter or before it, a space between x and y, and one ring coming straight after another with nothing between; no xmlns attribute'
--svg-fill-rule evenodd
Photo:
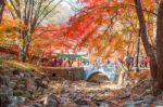
<svg viewBox="0 0 163 107"><path fill-rule="evenodd" d="M122 49L126 49L127 45L127 50L131 53L131 46L136 42L135 36L138 35L134 6L126 1L116 0L109 2L108 0L86 0L84 2L87 3L87 6L71 18L67 35L71 38L74 36L74 39L80 38L77 40L79 46L87 45L88 50L91 49L89 52L92 54L95 52L96 56L102 56L105 59L113 53L111 51L121 51L123 54ZM152 15L146 12L149 26L153 24ZM152 37L153 28L149 28L148 32ZM112 43L115 41L116 43Z"/></svg>

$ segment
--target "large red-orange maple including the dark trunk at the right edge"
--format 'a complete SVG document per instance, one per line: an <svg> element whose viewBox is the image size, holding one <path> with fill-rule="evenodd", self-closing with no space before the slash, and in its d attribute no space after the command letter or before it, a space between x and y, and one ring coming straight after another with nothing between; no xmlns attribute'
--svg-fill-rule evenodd
<svg viewBox="0 0 163 107"><path fill-rule="evenodd" d="M85 45L96 56L110 56L115 52L114 48L120 43L118 49L124 49L125 43L134 45L140 28L141 41L146 54L150 57L150 70L153 78L153 86L162 88L162 2L160 1L159 13L154 13L153 0L80 0L86 6L82 9L70 21L68 36L78 39L77 45ZM156 0L159 2L159 0ZM131 15L130 15L131 14ZM156 57L154 55L154 16L158 15L156 30ZM117 27L120 24L120 27ZM115 26L114 26L115 25ZM105 27L106 26L106 27ZM117 27L118 30L115 30ZM102 29L102 30L101 30ZM123 30L123 31L122 31ZM127 34L125 34L127 32ZM120 36L118 36L120 35ZM104 39L102 39L104 38ZM103 42L106 42L105 45ZM128 44L127 44L128 45ZM130 49L130 48L128 48ZM125 50L123 50L125 51ZM122 52L121 52L122 53Z"/></svg>

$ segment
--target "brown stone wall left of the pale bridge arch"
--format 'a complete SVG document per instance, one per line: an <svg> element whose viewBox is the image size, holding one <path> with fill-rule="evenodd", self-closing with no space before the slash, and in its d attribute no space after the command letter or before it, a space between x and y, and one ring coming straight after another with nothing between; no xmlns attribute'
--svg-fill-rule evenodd
<svg viewBox="0 0 163 107"><path fill-rule="evenodd" d="M66 79L66 80L82 80L84 68L83 67L46 67L42 68L45 75L50 79Z"/></svg>

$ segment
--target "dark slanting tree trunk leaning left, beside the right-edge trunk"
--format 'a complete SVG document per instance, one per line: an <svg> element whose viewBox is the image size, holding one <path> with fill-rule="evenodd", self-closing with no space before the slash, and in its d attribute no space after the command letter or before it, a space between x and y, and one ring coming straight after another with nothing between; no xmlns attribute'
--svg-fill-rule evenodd
<svg viewBox="0 0 163 107"><path fill-rule="evenodd" d="M136 13L138 16L139 21L139 26L140 26L140 35L141 35L141 40L145 46L146 54L148 57L150 57L150 70L151 70L151 76L154 82L156 82L156 70L158 70L158 65L156 65L156 58L154 56L153 49L148 40L148 35L147 35L147 27L146 27L146 21L145 16L142 13L142 6L140 0L134 0L135 1L135 8L136 8Z"/></svg>

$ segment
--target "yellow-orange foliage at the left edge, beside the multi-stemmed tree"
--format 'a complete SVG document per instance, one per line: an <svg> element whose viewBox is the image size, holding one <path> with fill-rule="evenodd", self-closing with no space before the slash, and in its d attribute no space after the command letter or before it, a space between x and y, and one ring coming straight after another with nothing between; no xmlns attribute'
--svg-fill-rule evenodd
<svg viewBox="0 0 163 107"><path fill-rule="evenodd" d="M24 28L18 19L12 19L7 16L2 18L0 24L0 49L2 52L17 55L17 31Z"/></svg>

